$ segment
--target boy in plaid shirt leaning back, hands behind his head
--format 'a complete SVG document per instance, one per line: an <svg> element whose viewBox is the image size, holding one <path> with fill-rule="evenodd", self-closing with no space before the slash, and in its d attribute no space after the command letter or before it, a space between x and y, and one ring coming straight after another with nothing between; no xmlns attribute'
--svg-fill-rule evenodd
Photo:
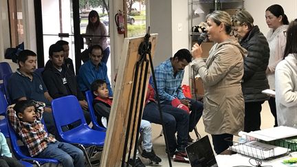
<svg viewBox="0 0 297 167"><path fill-rule="evenodd" d="M45 103L21 100L8 107L14 131L28 147L31 157L57 159L64 167L85 166L83 151L72 144L58 142L41 122Z"/></svg>

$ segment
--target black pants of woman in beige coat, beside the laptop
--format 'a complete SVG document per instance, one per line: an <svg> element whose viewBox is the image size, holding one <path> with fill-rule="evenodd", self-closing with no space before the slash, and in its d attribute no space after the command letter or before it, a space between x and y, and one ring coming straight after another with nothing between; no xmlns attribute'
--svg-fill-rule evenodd
<svg viewBox="0 0 297 167"><path fill-rule="evenodd" d="M232 146L233 135L228 133L223 133L221 135L212 135L212 144L214 146L214 151L219 155L221 152L225 151L229 146Z"/></svg>

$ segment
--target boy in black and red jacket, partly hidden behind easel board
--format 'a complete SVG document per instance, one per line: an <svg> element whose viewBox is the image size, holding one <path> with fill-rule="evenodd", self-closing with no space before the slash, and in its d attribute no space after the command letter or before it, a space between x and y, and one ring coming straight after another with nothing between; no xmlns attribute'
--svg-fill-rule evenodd
<svg viewBox="0 0 297 167"><path fill-rule="evenodd" d="M107 127L109 113L111 111L112 98L109 98L109 90L107 88L106 82L104 82L104 80L95 80L91 84L91 91L95 96L93 100L93 106L97 116L98 124ZM143 133L142 146L144 150L142 151L142 157L151 159L153 162L161 162L162 159L157 157L157 155L155 155L154 151L152 150L153 144L151 142L151 123L146 120L142 120L140 122L140 128L142 129ZM144 166L138 155L137 159L135 160L135 166Z"/></svg>

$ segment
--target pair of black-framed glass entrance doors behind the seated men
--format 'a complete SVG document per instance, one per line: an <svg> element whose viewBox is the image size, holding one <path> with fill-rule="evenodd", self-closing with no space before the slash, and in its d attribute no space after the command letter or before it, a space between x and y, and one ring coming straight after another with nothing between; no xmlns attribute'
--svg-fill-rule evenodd
<svg viewBox="0 0 297 167"><path fill-rule="evenodd" d="M36 26L37 52L42 54L39 60L43 59L41 63L44 65L49 60L50 45L59 40L67 41L69 58L72 58L77 71L83 63L81 53L88 48L85 32L89 12L95 10L100 18L108 16L109 0L34 0L34 5L37 11L36 24L39 21L42 23ZM40 18L39 15L41 15ZM107 29L105 37L107 47L110 49L109 24L104 23L104 27ZM108 67L110 67L110 59L107 62Z"/></svg>

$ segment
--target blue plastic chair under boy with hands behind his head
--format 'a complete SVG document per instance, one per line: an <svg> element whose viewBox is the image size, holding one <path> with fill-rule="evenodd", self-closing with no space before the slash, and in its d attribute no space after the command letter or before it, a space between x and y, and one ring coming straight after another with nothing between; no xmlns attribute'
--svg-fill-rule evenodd
<svg viewBox="0 0 297 167"><path fill-rule="evenodd" d="M60 162L58 162L58 160L56 159L30 157L27 146L19 145L19 142L18 142L18 140L20 140L19 135L12 128L9 120L7 120L7 124L8 124L8 132L10 134L10 144L12 147L12 153L14 153L14 156L17 159L30 159L33 162L37 162L37 164L40 164L40 165L50 163L50 165L56 164L56 166L58 166ZM37 166L40 166L40 165L37 165Z"/></svg>

